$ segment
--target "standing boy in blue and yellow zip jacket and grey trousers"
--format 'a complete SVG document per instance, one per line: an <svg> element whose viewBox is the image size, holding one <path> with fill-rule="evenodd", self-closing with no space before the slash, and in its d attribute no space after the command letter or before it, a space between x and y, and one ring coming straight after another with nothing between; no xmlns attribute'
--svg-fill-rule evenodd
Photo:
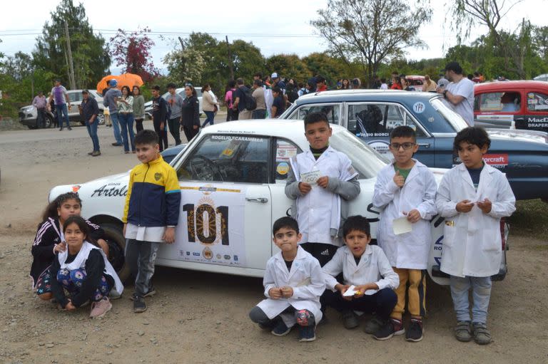
<svg viewBox="0 0 548 364"><path fill-rule="evenodd" d="M159 154L156 132L138 132L135 147L141 164L129 174L122 221L126 263L135 276L135 292L131 297L133 312L144 312L144 298L156 293L151 279L158 246L162 242L172 244L175 241L181 189L175 170Z"/></svg>

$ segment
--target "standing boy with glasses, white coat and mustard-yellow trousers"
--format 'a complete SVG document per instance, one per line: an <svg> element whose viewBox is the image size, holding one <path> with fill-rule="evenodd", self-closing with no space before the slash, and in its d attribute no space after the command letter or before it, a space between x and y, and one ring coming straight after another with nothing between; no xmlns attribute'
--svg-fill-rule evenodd
<svg viewBox="0 0 548 364"><path fill-rule="evenodd" d="M426 269L432 242L429 220L436 214L437 189L432 172L413 159L418 149L415 130L409 126L392 130L390 152L394 160L377 175L372 200L373 206L382 211L377 225L377 243L400 277L400 286L396 288L397 304L390 315L393 334L405 333L402 314L407 296L411 322L405 340L412 342L422 340ZM400 225L403 229L399 229ZM376 331L377 322L373 318L366 331Z"/></svg>

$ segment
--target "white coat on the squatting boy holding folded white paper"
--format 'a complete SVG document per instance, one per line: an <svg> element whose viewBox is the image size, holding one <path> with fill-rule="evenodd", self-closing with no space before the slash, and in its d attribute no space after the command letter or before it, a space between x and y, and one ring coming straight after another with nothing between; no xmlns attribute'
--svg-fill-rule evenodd
<svg viewBox="0 0 548 364"><path fill-rule="evenodd" d="M335 291L335 285L338 284L335 276L342 272L344 284L359 286L360 284L375 283L379 289L395 289L400 285L400 277L392 269L385 253L380 247L367 245L365 251L360 257L360 263L356 265L354 254L347 246L341 246L323 266L325 286ZM375 289L365 291L366 295L377 293Z"/></svg>

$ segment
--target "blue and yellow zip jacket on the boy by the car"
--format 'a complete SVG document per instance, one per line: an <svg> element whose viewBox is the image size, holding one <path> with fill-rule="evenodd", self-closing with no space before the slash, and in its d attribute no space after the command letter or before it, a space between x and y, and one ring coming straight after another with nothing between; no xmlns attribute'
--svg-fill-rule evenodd
<svg viewBox="0 0 548 364"><path fill-rule="evenodd" d="M179 220L181 188L177 174L161 155L129 173L124 223L141 227L175 226Z"/></svg>

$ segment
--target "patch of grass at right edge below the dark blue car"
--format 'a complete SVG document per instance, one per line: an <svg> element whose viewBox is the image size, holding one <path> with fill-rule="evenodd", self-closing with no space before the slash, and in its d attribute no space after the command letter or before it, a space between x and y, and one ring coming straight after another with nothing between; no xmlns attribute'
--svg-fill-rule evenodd
<svg viewBox="0 0 548 364"><path fill-rule="evenodd" d="M540 199L516 202L516 212L509 217L510 234L531 236L548 241L548 204Z"/></svg>

